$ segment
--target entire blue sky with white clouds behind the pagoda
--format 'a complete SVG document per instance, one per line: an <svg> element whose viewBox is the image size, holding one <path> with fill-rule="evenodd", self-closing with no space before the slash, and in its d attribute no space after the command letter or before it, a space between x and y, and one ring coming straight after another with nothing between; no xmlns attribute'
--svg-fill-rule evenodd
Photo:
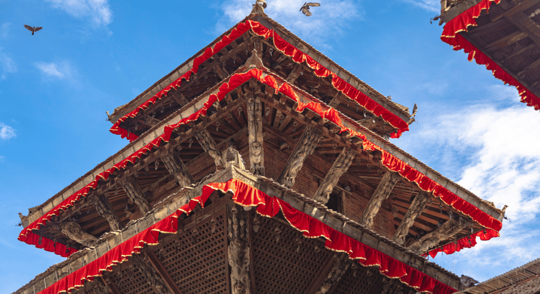
<svg viewBox="0 0 540 294"><path fill-rule="evenodd" d="M17 213L126 145L105 111L171 72L251 10L251 0L0 0L0 293L53 263L17 241ZM510 207L502 237L435 261L484 281L540 255L540 113L430 24L436 0L267 0L266 12L394 101L419 105L393 140L478 196ZM23 24L43 26L34 36Z"/></svg>

